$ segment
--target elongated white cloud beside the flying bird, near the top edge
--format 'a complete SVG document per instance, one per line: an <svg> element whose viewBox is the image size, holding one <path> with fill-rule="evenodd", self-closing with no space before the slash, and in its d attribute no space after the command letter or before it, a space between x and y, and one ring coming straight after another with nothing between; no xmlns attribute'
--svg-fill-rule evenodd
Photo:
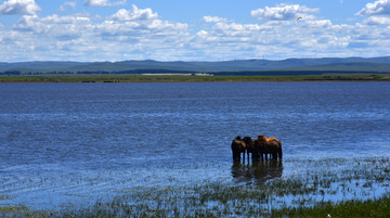
<svg viewBox="0 0 390 218"><path fill-rule="evenodd" d="M251 11L251 16L263 21L288 21L316 13L318 9L311 9L299 4L277 4L276 7L257 9Z"/></svg>

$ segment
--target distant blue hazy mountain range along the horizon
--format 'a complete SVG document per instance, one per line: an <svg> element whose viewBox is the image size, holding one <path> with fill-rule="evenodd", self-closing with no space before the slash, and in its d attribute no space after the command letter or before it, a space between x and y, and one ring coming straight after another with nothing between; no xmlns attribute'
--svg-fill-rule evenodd
<svg viewBox="0 0 390 218"><path fill-rule="evenodd" d="M140 74L212 73L220 75L277 75L320 73L390 73L390 56L234 60L219 62L159 62L153 60L122 62L0 62L0 74Z"/></svg>

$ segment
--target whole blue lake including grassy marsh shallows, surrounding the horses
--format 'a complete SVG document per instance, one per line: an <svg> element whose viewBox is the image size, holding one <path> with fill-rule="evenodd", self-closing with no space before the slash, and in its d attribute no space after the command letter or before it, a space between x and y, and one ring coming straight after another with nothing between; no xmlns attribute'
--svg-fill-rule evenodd
<svg viewBox="0 0 390 218"><path fill-rule="evenodd" d="M389 90L378 81L1 84L0 215L364 208L358 215L386 217ZM276 137L283 161L233 163L238 134Z"/></svg>

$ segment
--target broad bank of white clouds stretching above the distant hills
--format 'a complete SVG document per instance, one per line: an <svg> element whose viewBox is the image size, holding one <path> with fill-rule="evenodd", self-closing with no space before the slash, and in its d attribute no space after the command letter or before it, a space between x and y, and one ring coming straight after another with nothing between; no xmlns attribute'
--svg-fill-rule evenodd
<svg viewBox="0 0 390 218"><path fill-rule="evenodd" d="M303 18L297 21L289 13L280 12L274 14L294 18L263 15L261 18L266 22L240 23L227 17L203 16L198 23L186 24L162 20L152 9L135 5L104 17L88 13L44 17L29 14L12 28L0 28L0 56L3 61L200 61L389 53L389 17L370 16L356 24L334 24L315 17L312 13L316 9L303 5L292 9Z"/></svg>

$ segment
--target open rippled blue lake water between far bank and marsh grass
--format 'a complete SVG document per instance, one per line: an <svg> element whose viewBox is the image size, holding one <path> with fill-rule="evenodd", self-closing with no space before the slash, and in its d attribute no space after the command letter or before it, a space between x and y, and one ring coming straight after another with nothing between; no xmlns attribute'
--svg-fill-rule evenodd
<svg viewBox="0 0 390 218"><path fill-rule="evenodd" d="M390 156L390 82L0 84L0 204L88 206ZM282 141L283 164L234 165L232 139L258 134Z"/></svg>

